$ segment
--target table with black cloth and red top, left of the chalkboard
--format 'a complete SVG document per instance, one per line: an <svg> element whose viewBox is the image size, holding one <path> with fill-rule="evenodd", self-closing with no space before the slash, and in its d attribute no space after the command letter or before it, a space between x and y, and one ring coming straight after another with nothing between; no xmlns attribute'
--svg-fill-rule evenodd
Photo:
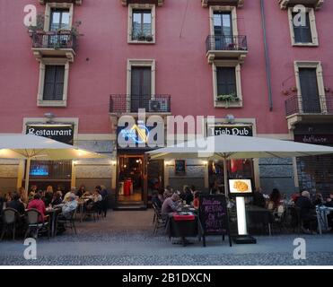
<svg viewBox="0 0 333 287"><path fill-rule="evenodd" d="M203 229L197 215L191 213L190 219L181 218L183 213L170 213L166 224L166 233L169 238L181 238L180 243L185 247L189 244L186 237L203 237ZM205 241L205 240L204 240Z"/></svg>

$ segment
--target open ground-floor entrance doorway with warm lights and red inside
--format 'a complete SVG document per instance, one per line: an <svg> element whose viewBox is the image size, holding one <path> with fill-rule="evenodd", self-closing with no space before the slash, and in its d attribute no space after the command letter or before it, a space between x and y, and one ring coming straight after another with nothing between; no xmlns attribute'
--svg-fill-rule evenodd
<svg viewBox="0 0 333 287"><path fill-rule="evenodd" d="M144 156L120 155L118 162L118 202L143 202Z"/></svg>

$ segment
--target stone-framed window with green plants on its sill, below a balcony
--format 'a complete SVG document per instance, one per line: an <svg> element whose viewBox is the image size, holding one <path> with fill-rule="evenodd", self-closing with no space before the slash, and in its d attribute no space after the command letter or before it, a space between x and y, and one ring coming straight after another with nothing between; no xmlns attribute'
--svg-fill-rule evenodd
<svg viewBox="0 0 333 287"><path fill-rule="evenodd" d="M213 62L215 108L241 108L241 64L237 60Z"/></svg>

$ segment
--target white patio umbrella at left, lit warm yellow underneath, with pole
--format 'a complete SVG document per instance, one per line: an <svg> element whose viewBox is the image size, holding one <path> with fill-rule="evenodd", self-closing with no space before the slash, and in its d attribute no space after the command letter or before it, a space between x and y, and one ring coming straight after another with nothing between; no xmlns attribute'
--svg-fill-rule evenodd
<svg viewBox="0 0 333 287"><path fill-rule="evenodd" d="M89 152L66 143L37 135L0 135L0 159L27 160L25 190L29 188L31 160L57 161L106 158L97 152Z"/></svg>

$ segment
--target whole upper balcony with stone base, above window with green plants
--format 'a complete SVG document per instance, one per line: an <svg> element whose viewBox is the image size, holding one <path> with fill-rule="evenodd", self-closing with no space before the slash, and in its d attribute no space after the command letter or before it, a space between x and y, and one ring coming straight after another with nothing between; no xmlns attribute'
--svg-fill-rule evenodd
<svg viewBox="0 0 333 287"><path fill-rule="evenodd" d="M215 36L206 38L206 56L208 62L215 59L237 58L240 62L248 54L248 42L246 36Z"/></svg>

